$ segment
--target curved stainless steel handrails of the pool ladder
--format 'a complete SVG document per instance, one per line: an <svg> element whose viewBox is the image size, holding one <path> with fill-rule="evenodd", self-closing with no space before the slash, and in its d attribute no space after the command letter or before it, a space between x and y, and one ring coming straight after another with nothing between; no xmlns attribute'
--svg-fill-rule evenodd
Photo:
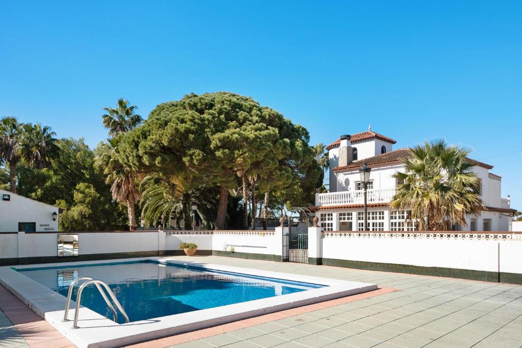
<svg viewBox="0 0 522 348"><path fill-rule="evenodd" d="M73 281L72 283L70 283L70 285L69 285L69 292L67 293L67 303L65 305L64 319L62 321L69 321L69 319L67 319L67 315L69 314L70 298L71 298L71 296L73 296L73 287L76 285L76 283L78 283L79 281L82 281L82 280L85 281L85 283L80 285L80 287L78 289L78 295L76 296L76 310L74 311L74 325L73 325L73 329L79 329L79 326L78 326L78 315L80 314L81 293L90 284L94 284L98 288L98 291L100 292L101 297L103 297L103 299L105 300L105 303L109 306L109 308L112 311L112 315L114 317L114 321L117 322L118 314L116 313L116 309L114 309L114 306L112 305L111 301L109 301L109 298L107 297L107 295L105 295L105 292L103 291L101 285L103 285L105 290L109 293L109 296L111 296L112 301L114 302L116 307L118 307L120 312L125 317L125 322L129 322L129 317L127 316L127 313L125 313L125 310L123 309L122 305L120 304L120 302L118 301L118 299L116 298L114 293L112 292L112 290L109 287L109 285L107 285L107 283L105 283L105 282L103 282L103 281L101 281L99 279L92 279L91 277L80 277L80 278L76 279L75 281Z"/></svg>

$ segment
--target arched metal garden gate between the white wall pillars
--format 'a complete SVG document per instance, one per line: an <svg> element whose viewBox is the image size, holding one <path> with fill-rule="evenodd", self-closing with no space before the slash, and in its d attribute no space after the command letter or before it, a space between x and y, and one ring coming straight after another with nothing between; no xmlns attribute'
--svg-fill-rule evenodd
<svg viewBox="0 0 522 348"><path fill-rule="evenodd" d="M308 227L310 226L310 210L306 208L291 208L289 212L299 213L299 218L295 217L298 219L298 224L294 226L295 218L287 215L288 235L283 236L283 261L308 263ZM303 227L304 223L306 223L306 229L304 231L299 231L299 227ZM284 241L284 239L286 239L286 241Z"/></svg>

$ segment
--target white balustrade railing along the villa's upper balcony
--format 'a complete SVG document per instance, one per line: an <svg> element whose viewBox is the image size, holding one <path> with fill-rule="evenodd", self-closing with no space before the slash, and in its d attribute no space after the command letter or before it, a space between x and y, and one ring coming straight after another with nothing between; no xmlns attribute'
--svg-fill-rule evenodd
<svg viewBox="0 0 522 348"><path fill-rule="evenodd" d="M379 188L367 190L367 203L388 203L395 195L394 188ZM320 206L339 206L339 205L358 205L364 203L364 191L342 191L330 192L327 194L317 194L315 205Z"/></svg>

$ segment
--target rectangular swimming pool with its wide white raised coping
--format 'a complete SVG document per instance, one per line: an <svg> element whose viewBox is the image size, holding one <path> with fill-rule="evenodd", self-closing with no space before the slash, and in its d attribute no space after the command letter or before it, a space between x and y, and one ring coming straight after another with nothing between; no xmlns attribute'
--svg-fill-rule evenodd
<svg viewBox="0 0 522 348"><path fill-rule="evenodd" d="M114 322L94 287L82 294L79 328L73 328L73 320L63 321L65 290L82 276L108 281L131 322ZM377 289L363 282L175 257L0 267L0 284L80 348L120 347ZM84 297L87 291L91 296ZM70 304L69 319L74 307Z"/></svg>

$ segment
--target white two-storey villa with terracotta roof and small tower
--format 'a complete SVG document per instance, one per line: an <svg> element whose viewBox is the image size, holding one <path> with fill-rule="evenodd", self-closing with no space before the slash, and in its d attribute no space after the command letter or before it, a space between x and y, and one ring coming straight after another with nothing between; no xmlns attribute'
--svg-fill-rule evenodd
<svg viewBox="0 0 522 348"><path fill-rule="evenodd" d="M408 149L394 150L392 138L375 133L369 127L362 133L343 135L326 148L328 150L328 193L316 194L316 211L324 231L363 231L364 191L360 182L360 167L371 167L367 190L368 228L366 231L415 231L414 222L405 223L408 211L390 211L389 202L395 195L396 172L404 171L402 159ZM499 175L490 173L492 165L471 160L473 171L482 182L482 201L486 210L478 218L467 218L467 226L455 226L460 231L509 231L515 212L508 198L501 198Z"/></svg>

